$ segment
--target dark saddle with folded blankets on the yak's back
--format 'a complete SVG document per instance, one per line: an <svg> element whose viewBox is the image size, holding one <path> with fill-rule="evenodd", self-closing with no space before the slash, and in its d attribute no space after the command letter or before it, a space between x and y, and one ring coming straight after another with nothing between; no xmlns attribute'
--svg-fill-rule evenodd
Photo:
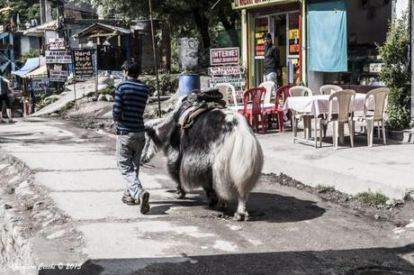
<svg viewBox="0 0 414 275"><path fill-rule="evenodd" d="M225 107L226 102L218 89L193 90L191 94L184 97L180 108L175 113L175 121L185 130L193 124L197 116Z"/></svg>

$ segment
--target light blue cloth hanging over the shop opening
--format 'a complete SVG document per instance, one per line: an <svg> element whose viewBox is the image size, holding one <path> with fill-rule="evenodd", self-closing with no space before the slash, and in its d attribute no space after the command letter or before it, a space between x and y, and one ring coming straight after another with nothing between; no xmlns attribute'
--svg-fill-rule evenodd
<svg viewBox="0 0 414 275"><path fill-rule="evenodd" d="M342 0L310 4L309 69L347 71L347 8Z"/></svg>

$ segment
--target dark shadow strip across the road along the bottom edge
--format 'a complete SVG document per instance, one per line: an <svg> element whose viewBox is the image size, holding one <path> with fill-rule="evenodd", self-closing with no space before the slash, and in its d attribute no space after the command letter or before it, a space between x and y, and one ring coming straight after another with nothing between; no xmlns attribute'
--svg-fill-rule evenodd
<svg viewBox="0 0 414 275"><path fill-rule="evenodd" d="M261 252L144 259L85 261L80 270L40 270L41 275L413 275L414 265L401 255L414 244L397 248L367 248L302 252ZM412 257L412 255L411 255Z"/></svg>

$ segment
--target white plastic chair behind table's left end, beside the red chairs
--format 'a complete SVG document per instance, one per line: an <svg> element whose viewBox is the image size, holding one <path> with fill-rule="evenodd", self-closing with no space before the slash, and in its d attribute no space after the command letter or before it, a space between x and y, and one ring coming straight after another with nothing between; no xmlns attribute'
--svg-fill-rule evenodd
<svg viewBox="0 0 414 275"><path fill-rule="evenodd" d="M312 96L312 91L309 87L304 86L294 86L289 88L289 96ZM297 133L298 133L298 123L299 120L303 120L303 133L305 139L309 139L311 137L311 120L313 115L308 113L299 113L293 111L293 142L296 141ZM315 136L316 139L316 136ZM315 144L316 147L316 144Z"/></svg>

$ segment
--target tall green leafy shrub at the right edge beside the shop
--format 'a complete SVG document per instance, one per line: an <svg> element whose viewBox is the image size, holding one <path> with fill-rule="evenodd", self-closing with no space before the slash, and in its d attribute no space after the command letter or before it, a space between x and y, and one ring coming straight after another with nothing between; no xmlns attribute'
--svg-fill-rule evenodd
<svg viewBox="0 0 414 275"><path fill-rule="evenodd" d="M387 128L403 130L410 127L410 25L408 13L390 24L389 35L378 46L383 59L380 78L390 88Z"/></svg>

